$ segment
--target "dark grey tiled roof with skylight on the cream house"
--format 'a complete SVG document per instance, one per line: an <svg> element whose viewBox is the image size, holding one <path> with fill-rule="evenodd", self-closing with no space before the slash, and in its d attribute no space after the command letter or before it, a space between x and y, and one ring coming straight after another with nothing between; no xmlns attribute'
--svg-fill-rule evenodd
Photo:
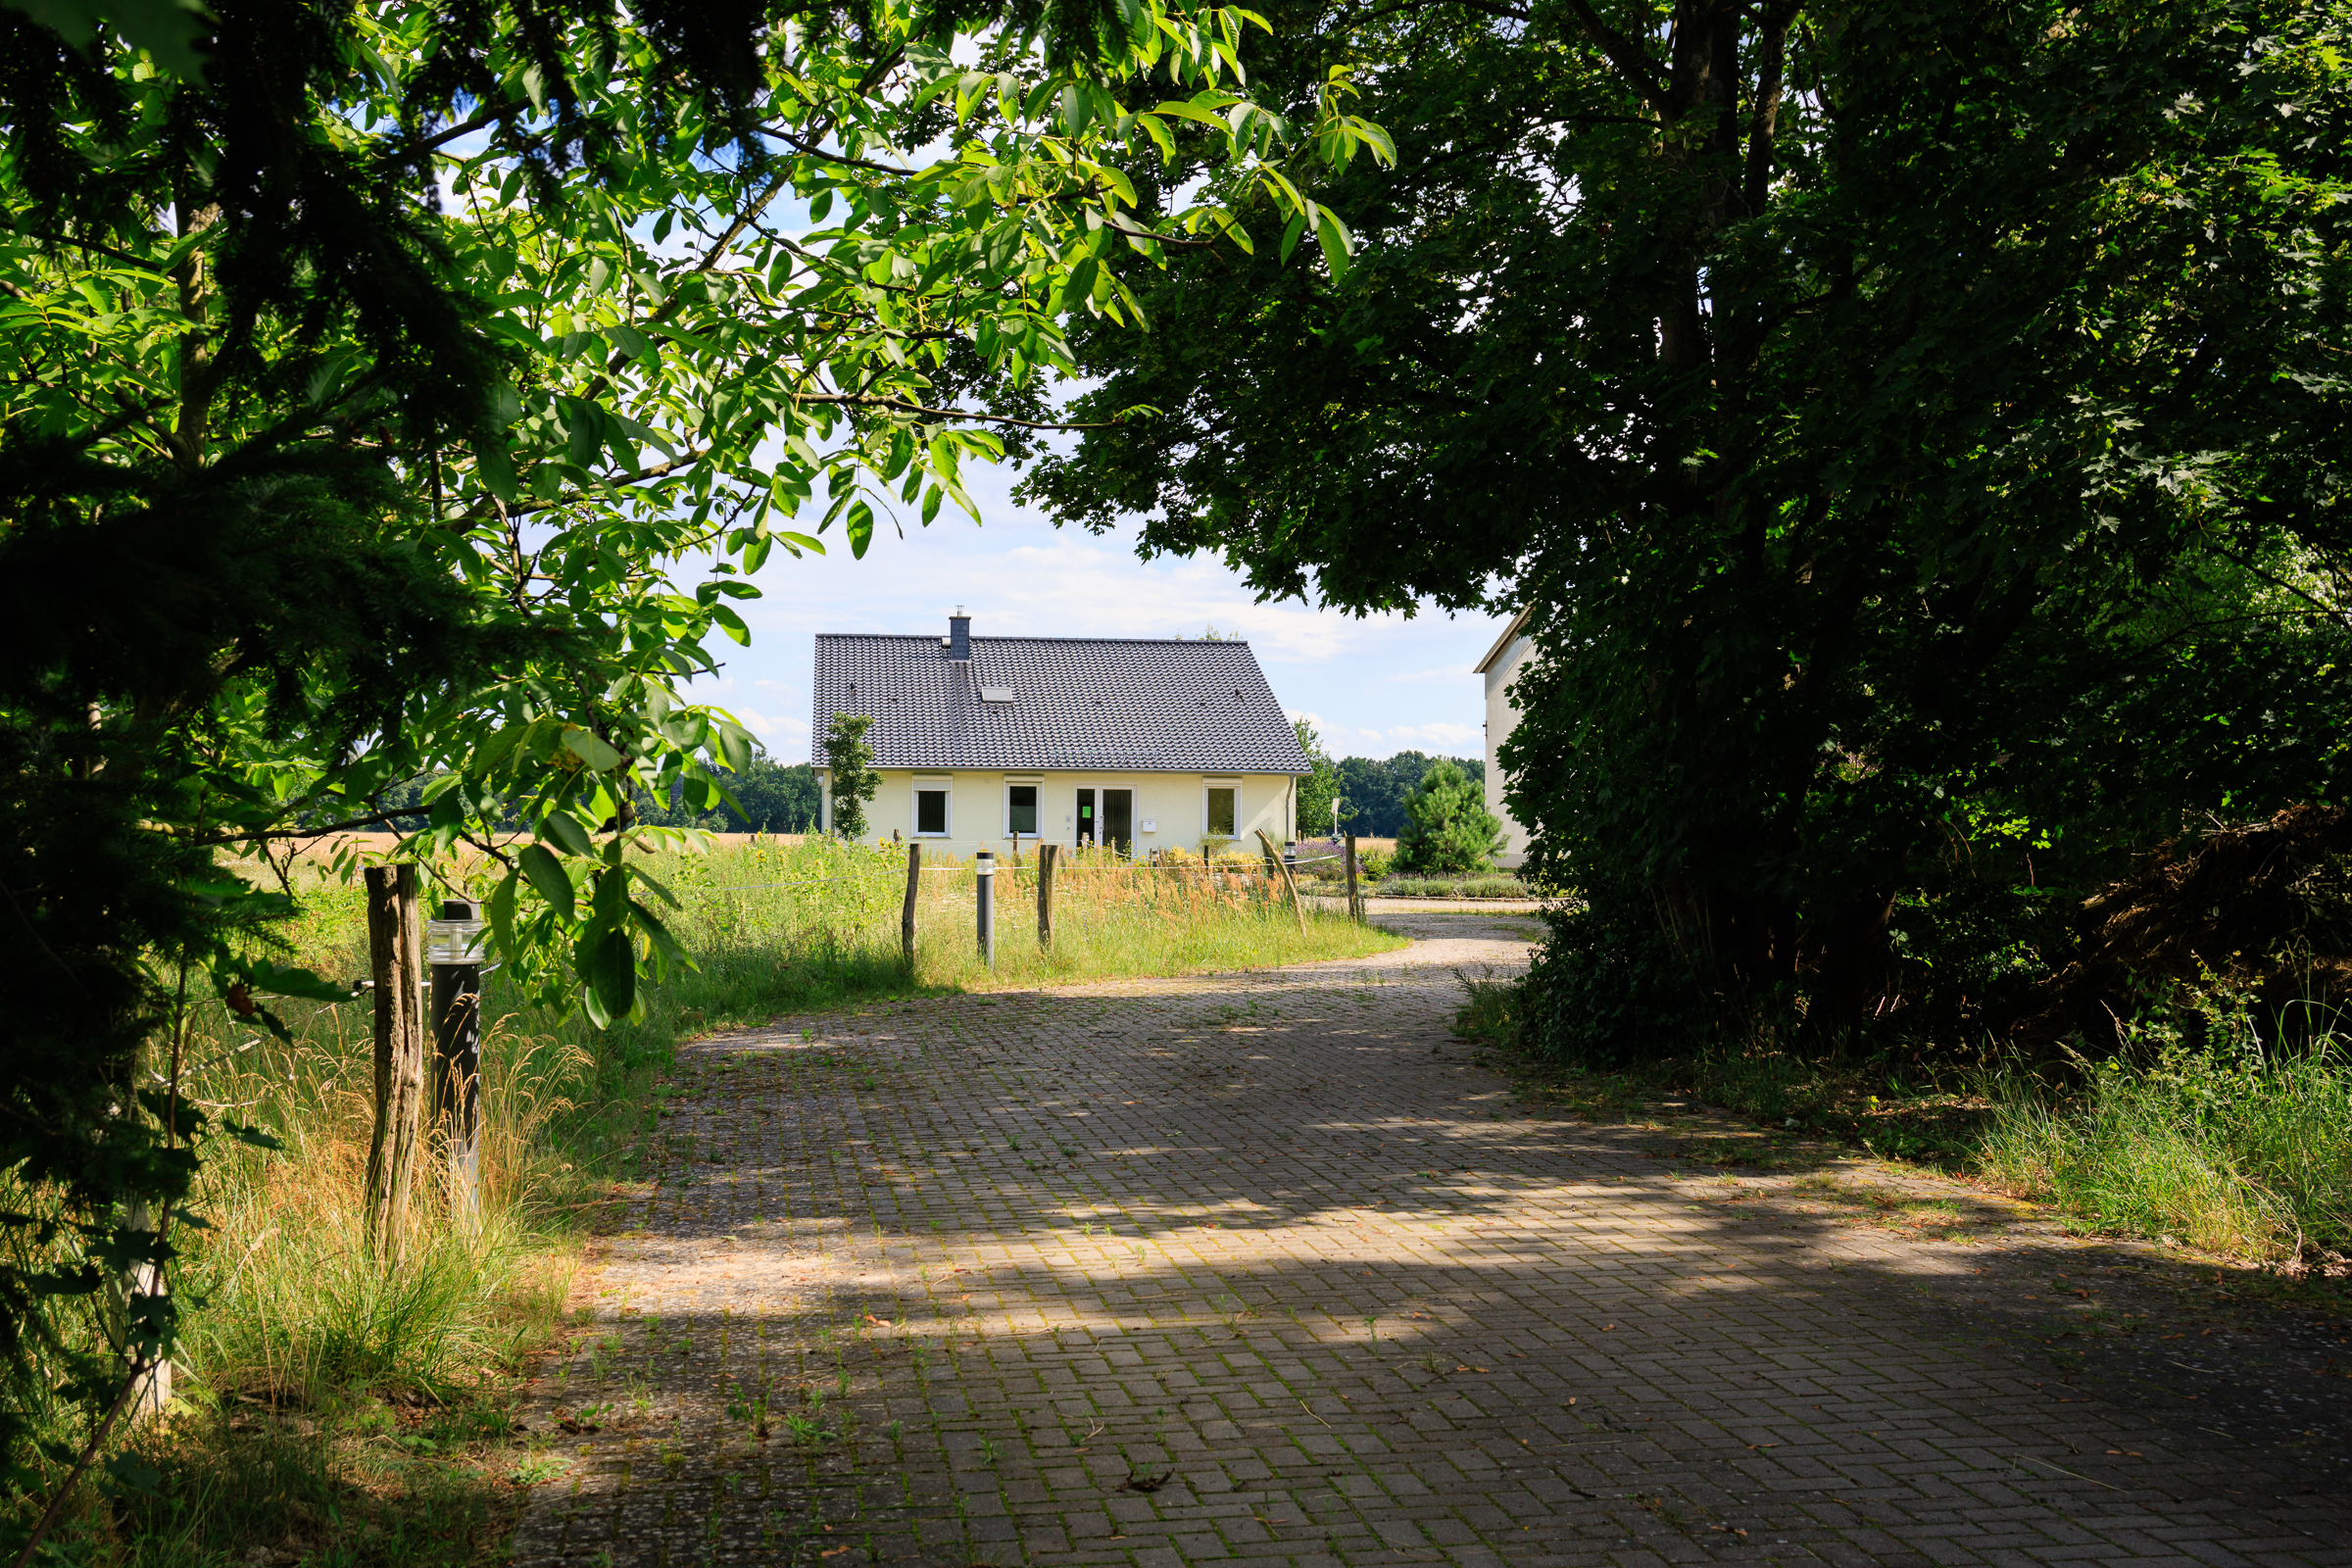
<svg viewBox="0 0 2352 1568"><path fill-rule="evenodd" d="M983 701L1009 689L1011 701ZM837 712L873 717L877 769L1305 773L1247 642L816 639L816 764Z"/></svg>

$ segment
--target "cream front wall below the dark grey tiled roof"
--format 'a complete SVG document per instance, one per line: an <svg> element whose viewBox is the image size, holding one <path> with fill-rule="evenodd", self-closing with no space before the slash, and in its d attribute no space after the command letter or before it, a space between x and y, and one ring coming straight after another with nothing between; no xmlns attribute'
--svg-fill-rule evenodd
<svg viewBox="0 0 2352 1568"><path fill-rule="evenodd" d="M1169 846L1185 853L1200 853L1200 842L1209 830L1211 785L1240 790L1235 799L1235 839L1254 846L1258 827L1263 827L1277 844L1296 837L1296 825L1291 823L1291 811L1296 809L1296 780L1289 773L1009 773L967 769L875 771L882 778L882 788L866 806L868 844L887 844L891 832L896 832L901 839L920 837L924 844L936 844L943 853L953 856L971 856L981 849L993 849L1002 856L1011 846L1007 818L1011 811L1011 785L1016 783L1037 785L1037 832L1023 832L1023 844L1035 844L1037 839L1054 839L1056 844L1077 842L1077 792L1082 788L1096 792L1096 813L1103 809L1103 790L1134 790L1131 820L1136 856ZM816 778L823 795L826 827L830 830L833 780L826 769L818 769ZM915 832L917 780L922 780L924 788L936 788L934 780L946 780L948 832Z"/></svg>

